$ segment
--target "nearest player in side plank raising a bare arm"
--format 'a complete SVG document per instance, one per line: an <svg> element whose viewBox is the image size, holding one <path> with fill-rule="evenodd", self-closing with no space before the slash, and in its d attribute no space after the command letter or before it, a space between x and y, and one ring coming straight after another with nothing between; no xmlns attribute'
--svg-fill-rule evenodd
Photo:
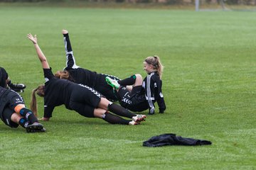
<svg viewBox="0 0 256 170"><path fill-rule="evenodd" d="M103 98L97 91L82 84L75 84L72 81L58 79L54 77L45 55L38 46L36 35L28 34L28 39L33 42L38 58L41 61L44 77L46 83L38 86L33 90L31 109L36 111L36 96L44 97L44 115L42 120L49 120L52 117L55 106L65 105L69 110L78 112L87 118L102 118L108 123L123 124L123 125L137 125L146 118L146 115L135 115L130 113L127 109L122 108ZM121 115L132 120L125 120L117 115Z"/></svg>

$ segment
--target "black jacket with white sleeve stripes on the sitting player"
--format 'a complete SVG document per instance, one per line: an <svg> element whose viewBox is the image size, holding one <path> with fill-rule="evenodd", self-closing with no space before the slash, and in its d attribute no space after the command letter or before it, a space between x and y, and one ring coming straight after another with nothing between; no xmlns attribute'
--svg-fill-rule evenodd
<svg viewBox="0 0 256 170"><path fill-rule="evenodd" d="M149 103L149 113L154 113L154 103L157 101L159 111L164 112L166 110L166 104L164 102L164 96L161 91L162 81L157 72L149 73L143 80L142 87L146 96L146 101Z"/></svg>

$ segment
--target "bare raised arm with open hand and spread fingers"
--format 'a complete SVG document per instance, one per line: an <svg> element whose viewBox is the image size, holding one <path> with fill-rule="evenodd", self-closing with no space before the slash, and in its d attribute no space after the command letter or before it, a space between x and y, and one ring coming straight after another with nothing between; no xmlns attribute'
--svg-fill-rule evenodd
<svg viewBox="0 0 256 170"><path fill-rule="evenodd" d="M36 35L33 36L31 33L29 33L27 35L27 37L28 37L29 40L31 40L31 42L33 42L33 45L36 48L36 53L38 54L38 59L41 61L43 69L50 69L49 64L46 60L46 56L43 55L43 52L42 52L41 48L38 45Z"/></svg>

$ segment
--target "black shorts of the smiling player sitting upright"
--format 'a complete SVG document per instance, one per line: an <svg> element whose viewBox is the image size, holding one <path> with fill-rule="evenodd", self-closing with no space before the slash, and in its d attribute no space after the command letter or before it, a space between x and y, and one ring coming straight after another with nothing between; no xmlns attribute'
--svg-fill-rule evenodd
<svg viewBox="0 0 256 170"><path fill-rule="evenodd" d="M132 91L121 87L118 91L119 103L130 111L141 112L149 108L145 94L141 93L142 86L134 86Z"/></svg>

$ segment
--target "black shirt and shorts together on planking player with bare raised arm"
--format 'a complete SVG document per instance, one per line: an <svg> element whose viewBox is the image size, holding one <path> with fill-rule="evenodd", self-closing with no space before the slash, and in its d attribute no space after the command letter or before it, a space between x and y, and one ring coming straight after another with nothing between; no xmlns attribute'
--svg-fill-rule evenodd
<svg viewBox="0 0 256 170"><path fill-rule="evenodd" d="M44 118L52 117L55 106L65 105L86 117L93 117L94 108L100 103L101 95L88 86L54 77L51 69L43 69L46 83L44 94Z"/></svg>

